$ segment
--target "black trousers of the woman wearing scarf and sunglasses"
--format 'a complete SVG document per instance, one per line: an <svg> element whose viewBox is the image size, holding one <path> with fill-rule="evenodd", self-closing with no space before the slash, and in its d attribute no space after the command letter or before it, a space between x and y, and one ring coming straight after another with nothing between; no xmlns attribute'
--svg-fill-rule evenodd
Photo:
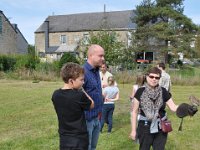
<svg viewBox="0 0 200 150"><path fill-rule="evenodd" d="M150 124L144 124L144 122L138 123L137 138L140 143L140 150L150 150L151 146L153 150L164 150L167 142L167 133L159 130L158 133L150 133Z"/></svg>

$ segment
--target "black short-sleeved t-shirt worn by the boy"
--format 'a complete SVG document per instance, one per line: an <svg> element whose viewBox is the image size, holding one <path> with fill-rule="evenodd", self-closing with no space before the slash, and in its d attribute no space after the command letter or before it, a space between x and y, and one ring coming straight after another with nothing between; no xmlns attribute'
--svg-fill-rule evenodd
<svg viewBox="0 0 200 150"><path fill-rule="evenodd" d="M84 110L89 110L91 101L80 90L58 89L52 95L58 117L60 137L87 135Z"/></svg>

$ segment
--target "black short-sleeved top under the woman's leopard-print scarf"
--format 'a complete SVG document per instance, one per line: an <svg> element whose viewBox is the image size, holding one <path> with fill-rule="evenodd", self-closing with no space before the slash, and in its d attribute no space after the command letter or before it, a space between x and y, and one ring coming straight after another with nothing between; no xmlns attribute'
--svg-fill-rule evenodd
<svg viewBox="0 0 200 150"><path fill-rule="evenodd" d="M171 98L171 94L163 87L162 88L162 97L163 97L163 105L159 110L159 114L161 115L161 117L163 117L165 115L165 107L166 107L166 102ZM145 87L141 87L139 88L136 93L135 93L135 98L140 102L141 101L141 95L144 92ZM139 104L139 108L141 111L141 115L145 116L144 112L141 109L141 104Z"/></svg>

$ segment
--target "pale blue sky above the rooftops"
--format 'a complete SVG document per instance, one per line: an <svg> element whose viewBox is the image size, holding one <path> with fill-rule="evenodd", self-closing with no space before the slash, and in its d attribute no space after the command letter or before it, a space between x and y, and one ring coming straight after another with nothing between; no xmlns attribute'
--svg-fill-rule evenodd
<svg viewBox="0 0 200 150"><path fill-rule="evenodd" d="M34 32L50 15L135 9L142 0L1 0L0 10L11 23L16 23L29 44ZM185 0L184 14L200 24L200 1Z"/></svg>

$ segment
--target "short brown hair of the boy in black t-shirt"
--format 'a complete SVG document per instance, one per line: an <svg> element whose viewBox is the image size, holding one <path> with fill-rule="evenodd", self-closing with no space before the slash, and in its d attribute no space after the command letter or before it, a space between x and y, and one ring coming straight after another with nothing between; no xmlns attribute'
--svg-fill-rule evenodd
<svg viewBox="0 0 200 150"><path fill-rule="evenodd" d="M77 79L79 76L84 75L84 69L76 63L65 63L60 71L60 76L65 83L68 83L69 79Z"/></svg>

